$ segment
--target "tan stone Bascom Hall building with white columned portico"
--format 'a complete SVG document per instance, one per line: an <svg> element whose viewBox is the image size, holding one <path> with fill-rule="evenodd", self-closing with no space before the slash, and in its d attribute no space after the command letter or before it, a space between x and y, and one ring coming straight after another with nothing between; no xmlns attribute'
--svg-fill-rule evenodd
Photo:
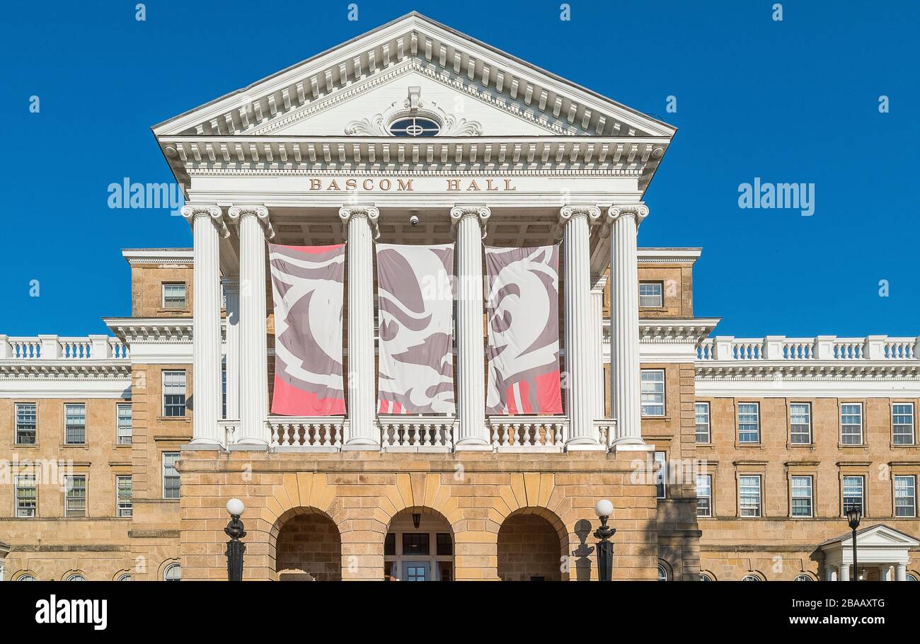
<svg viewBox="0 0 920 644"><path fill-rule="evenodd" d="M123 251L110 336L0 336L7 580L226 579L231 498L251 580L596 579L601 499L617 580L846 579L855 503L853 574L918 576L917 339L713 335L700 249L638 247L673 127L410 14L154 131L194 247ZM270 413L269 240L347 243L345 414ZM456 414L379 413L374 241L558 243L562 414L486 414L475 288Z"/></svg>

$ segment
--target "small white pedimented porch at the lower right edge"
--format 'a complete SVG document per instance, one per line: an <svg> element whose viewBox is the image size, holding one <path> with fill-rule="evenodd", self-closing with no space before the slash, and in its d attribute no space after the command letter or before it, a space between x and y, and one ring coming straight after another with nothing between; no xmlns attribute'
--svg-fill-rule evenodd
<svg viewBox="0 0 920 644"><path fill-rule="evenodd" d="M877 570L880 581L907 581L907 563L911 548L920 541L882 523L857 530L857 566L853 574L864 579L874 577ZM853 566L853 534L834 537L823 542L811 554L815 561L823 561L825 581L849 581ZM894 574L891 574L891 568Z"/></svg>

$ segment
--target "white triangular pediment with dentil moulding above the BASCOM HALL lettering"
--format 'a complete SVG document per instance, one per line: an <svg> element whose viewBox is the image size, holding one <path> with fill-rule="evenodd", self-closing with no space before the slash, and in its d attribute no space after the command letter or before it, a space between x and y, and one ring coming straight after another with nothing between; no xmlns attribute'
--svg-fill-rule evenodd
<svg viewBox="0 0 920 644"><path fill-rule="evenodd" d="M385 117L385 110L406 100L410 86L420 87L428 107L443 111L444 135L670 138L675 132L418 14L165 121L154 132L342 136L352 122L373 125L378 114Z"/></svg>

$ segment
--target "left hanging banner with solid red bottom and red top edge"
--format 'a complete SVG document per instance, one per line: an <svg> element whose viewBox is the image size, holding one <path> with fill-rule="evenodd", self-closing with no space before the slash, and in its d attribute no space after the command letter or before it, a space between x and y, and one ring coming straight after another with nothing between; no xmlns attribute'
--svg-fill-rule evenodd
<svg viewBox="0 0 920 644"><path fill-rule="evenodd" d="M345 245L269 244L269 265L275 304L275 388L271 413L344 414Z"/></svg>

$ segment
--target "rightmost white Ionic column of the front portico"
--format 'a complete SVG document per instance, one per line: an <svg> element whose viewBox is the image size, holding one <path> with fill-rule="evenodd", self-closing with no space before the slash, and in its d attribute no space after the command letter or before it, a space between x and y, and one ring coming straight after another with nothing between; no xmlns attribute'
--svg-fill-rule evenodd
<svg viewBox="0 0 920 644"><path fill-rule="evenodd" d="M638 362L638 224L643 204L613 206L610 224L610 380L617 446L643 444Z"/></svg>

